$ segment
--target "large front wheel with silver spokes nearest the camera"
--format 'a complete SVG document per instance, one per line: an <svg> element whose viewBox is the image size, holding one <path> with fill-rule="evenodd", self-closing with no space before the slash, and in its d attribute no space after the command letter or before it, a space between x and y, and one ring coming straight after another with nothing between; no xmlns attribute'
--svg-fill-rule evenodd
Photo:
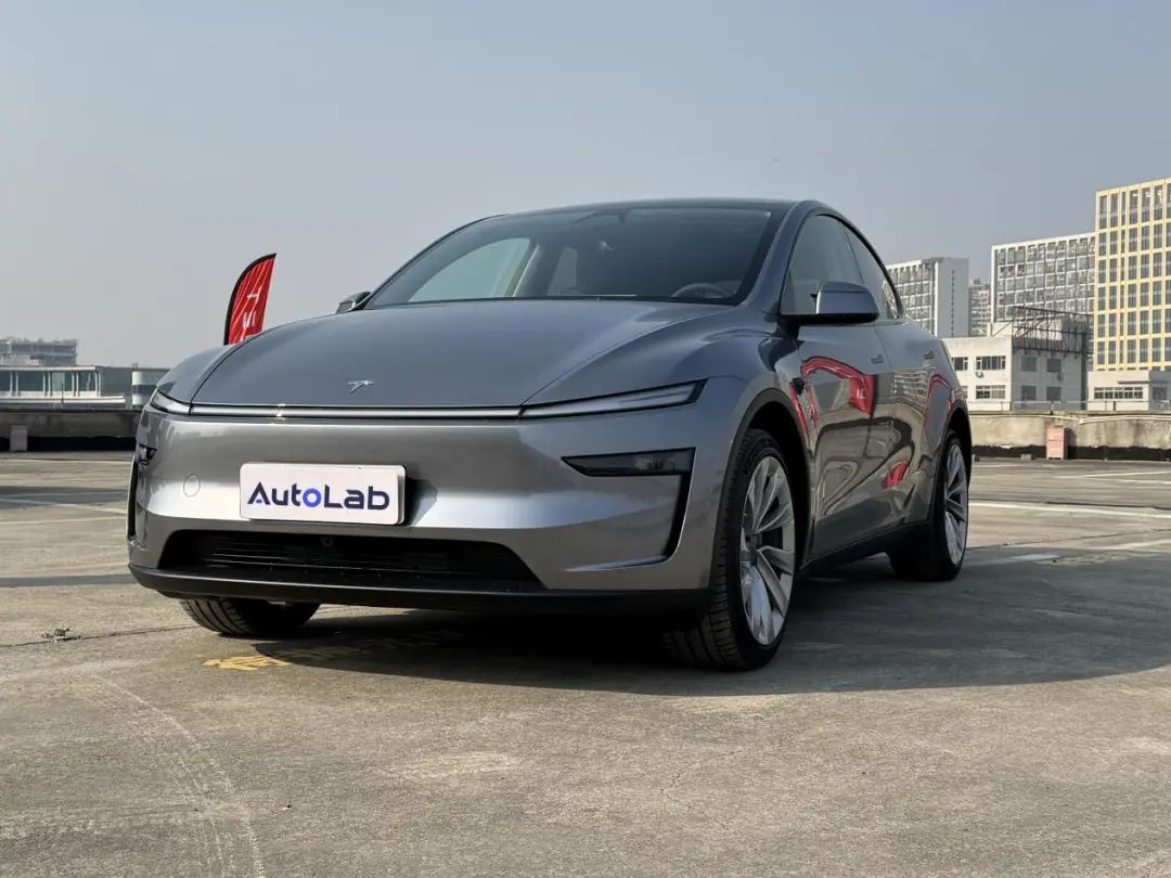
<svg viewBox="0 0 1171 878"><path fill-rule="evenodd" d="M733 452L725 479L712 551L711 603L698 624L664 635L667 654L698 667L751 671L776 653L800 561L792 483L776 440L762 430L749 430Z"/></svg>

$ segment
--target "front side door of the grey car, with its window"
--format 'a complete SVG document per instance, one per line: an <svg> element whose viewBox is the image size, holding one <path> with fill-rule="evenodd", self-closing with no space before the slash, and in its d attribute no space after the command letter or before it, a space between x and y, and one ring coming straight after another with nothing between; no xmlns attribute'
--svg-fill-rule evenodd
<svg viewBox="0 0 1171 878"><path fill-rule="evenodd" d="M828 214L804 221L781 294L782 315L814 311L824 281L862 283L844 224ZM794 382L813 458L810 558L871 536L882 523L875 506L879 461L868 457L878 375L886 357L872 324L800 324ZM881 483L881 479L878 480Z"/></svg>

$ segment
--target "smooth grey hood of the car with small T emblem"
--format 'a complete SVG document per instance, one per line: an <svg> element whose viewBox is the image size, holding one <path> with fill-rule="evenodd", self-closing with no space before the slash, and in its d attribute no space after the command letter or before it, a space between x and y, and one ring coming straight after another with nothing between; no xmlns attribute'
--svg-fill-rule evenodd
<svg viewBox="0 0 1171 878"><path fill-rule="evenodd" d="M351 311L249 338L214 364L191 402L519 406L635 339L726 311L727 306L718 304L582 300L437 302ZM355 382L369 383L354 389ZM630 376L628 384L622 389L655 386L638 376ZM597 390L604 392L610 389Z"/></svg>

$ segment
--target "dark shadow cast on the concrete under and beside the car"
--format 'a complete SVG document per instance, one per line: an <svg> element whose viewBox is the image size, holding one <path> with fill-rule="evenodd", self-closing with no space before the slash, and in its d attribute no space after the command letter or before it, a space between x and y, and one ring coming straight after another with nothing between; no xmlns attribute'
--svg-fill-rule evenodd
<svg viewBox="0 0 1171 878"><path fill-rule="evenodd" d="M1013 561L1019 555L1061 555ZM616 616L399 612L319 617L258 643L283 661L500 686L660 695L762 695L1078 680L1171 663L1166 554L974 550L950 583L870 558L803 583L767 667L719 673L666 659Z"/></svg>

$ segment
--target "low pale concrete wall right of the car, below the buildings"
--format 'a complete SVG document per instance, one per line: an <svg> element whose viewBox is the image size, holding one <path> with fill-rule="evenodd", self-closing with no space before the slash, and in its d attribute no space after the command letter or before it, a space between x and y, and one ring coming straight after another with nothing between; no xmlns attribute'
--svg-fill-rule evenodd
<svg viewBox="0 0 1171 878"><path fill-rule="evenodd" d="M1171 413L972 412L972 444L984 454L1041 455L1050 426L1069 431L1070 457L1171 460Z"/></svg>

